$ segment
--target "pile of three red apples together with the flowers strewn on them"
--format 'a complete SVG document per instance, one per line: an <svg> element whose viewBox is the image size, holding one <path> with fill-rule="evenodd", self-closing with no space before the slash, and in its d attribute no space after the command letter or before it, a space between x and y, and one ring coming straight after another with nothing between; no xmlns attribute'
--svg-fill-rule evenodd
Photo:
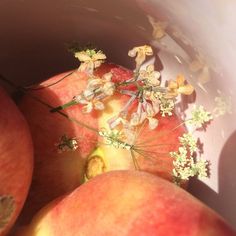
<svg viewBox="0 0 236 236"><path fill-rule="evenodd" d="M164 80L148 45L128 55L133 71L83 48L78 69L18 86L18 107L0 90L1 236L235 235L183 189L208 172L186 125L211 113L181 120L175 103L193 86Z"/></svg>

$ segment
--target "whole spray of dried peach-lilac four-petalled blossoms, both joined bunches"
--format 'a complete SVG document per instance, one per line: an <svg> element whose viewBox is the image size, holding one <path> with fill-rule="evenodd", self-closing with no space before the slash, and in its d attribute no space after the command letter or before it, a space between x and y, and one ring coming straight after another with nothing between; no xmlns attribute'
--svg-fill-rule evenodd
<svg viewBox="0 0 236 236"><path fill-rule="evenodd" d="M141 68L146 56L153 55L150 46L144 45L134 47L128 52L130 57L135 57L136 68L133 77L127 81L115 84L112 82L112 73L107 73L102 78L93 75L93 69L100 66L106 56L101 51L86 49L77 52L75 56L82 62L79 70L87 71L90 75L86 89L75 96L72 101L64 104L53 111L64 109L75 104L84 105L82 111L90 113L92 110L104 110L104 99L110 97L114 92L126 94L130 98L118 114L108 120L111 129L122 126L122 130L132 130L134 127L148 121L149 128L155 129L158 126L156 115L160 112L162 116L171 116L174 109L175 98L179 94L190 95L193 87L186 84L183 76L178 76L176 81L169 81L167 86L161 86L160 72L155 71L154 65L147 65ZM124 85L133 85L136 89L124 90ZM136 109L132 106L138 104ZM132 109L130 107L132 106ZM133 110L135 111L133 112ZM132 110L132 113L131 113Z"/></svg>

